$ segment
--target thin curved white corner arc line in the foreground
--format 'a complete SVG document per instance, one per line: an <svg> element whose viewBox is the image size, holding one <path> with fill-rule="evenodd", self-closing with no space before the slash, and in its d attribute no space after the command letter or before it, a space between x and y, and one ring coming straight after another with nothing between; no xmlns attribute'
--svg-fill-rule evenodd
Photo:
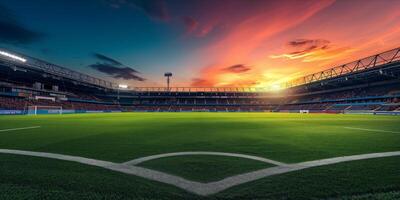
<svg viewBox="0 0 400 200"><path fill-rule="evenodd" d="M165 153L165 154L158 154L152 156L141 157L138 159L134 159L123 164L125 165L137 165L143 162L147 162L154 159L165 158L165 157L173 157L173 156L188 156L188 155L212 155L212 156L227 156L227 157L237 157L237 158L246 158L250 160L256 160L260 162L265 162L273 165L278 166L286 166L286 163L278 162L275 160L262 158L258 156L251 156L245 154L238 154L238 153L223 153L223 152L209 152L209 151L188 151L188 152L176 152L176 153Z"/></svg>

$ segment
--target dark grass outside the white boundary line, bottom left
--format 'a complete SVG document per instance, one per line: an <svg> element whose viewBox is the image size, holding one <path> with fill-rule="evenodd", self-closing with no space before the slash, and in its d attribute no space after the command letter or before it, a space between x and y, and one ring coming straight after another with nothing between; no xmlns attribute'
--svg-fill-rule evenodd
<svg viewBox="0 0 400 200"><path fill-rule="evenodd" d="M188 199L173 186L74 162L0 154L0 199Z"/></svg>

